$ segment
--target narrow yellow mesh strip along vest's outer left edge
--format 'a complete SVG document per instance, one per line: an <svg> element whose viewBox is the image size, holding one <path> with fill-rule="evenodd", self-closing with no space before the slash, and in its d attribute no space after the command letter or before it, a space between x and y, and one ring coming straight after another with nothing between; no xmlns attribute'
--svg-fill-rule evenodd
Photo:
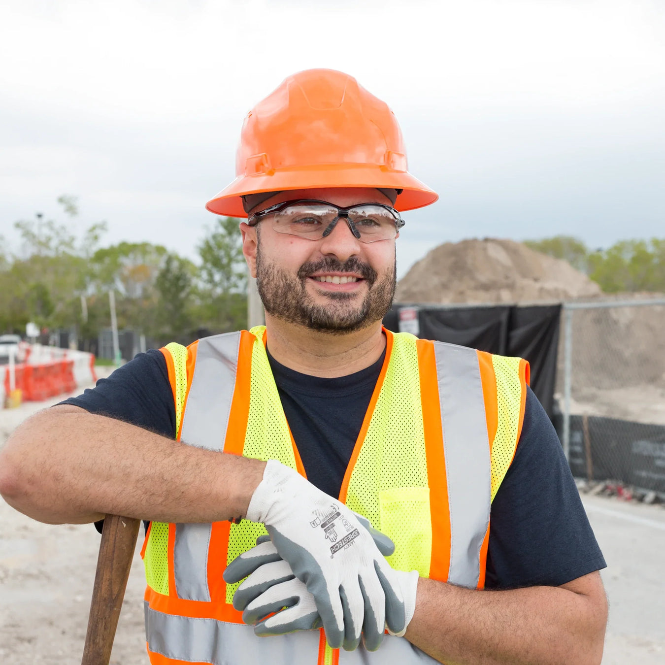
<svg viewBox="0 0 665 665"><path fill-rule="evenodd" d="M164 348L173 358L176 375L176 433L180 433L182 412L187 394L187 348L182 344L171 342ZM153 522L150 527L150 537L146 543L146 552L143 558L146 569L146 583L157 593L168 596L168 524Z"/></svg>

